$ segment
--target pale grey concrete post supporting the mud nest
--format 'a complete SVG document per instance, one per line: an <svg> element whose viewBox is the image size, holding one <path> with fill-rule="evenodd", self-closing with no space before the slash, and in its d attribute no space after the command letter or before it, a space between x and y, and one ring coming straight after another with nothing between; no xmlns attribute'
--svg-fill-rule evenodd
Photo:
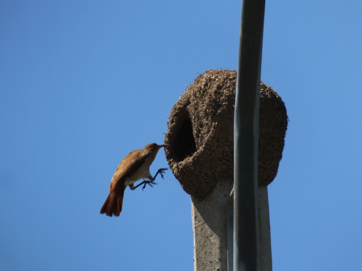
<svg viewBox="0 0 362 271"><path fill-rule="evenodd" d="M203 201L191 196L194 233L194 271L232 271L233 247L233 182L218 182ZM268 187L258 187L258 271L271 271L271 239ZM227 207L231 216L227 220Z"/></svg>

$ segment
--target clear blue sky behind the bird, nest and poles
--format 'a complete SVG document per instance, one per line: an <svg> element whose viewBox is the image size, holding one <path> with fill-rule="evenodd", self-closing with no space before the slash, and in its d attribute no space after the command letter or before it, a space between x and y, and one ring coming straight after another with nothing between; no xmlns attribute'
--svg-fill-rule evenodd
<svg viewBox="0 0 362 271"><path fill-rule="evenodd" d="M171 171L100 215L121 159L162 143L240 1L0 2L0 269L193 270ZM262 80L290 119L269 185L274 270L362 270L362 1L266 1ZM167 167L161 150L151 172Z"/></svg>

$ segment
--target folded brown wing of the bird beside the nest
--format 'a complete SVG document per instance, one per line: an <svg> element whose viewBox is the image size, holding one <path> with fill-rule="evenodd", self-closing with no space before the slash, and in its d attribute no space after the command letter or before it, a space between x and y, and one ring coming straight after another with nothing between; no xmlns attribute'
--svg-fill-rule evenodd
<svg viewBox="0 0 362 271"><path fill-rule="evenodd" d="M150 153L146 150L135 150L127 154L121 163L119 163L118 168L114 172L109 190L111 190L113 185L119 183L122 180L125 180L127 177L131 176L135 171L137 171L137 169L139 169L143 163L146 162L148 156L150 156Z"/></svg>

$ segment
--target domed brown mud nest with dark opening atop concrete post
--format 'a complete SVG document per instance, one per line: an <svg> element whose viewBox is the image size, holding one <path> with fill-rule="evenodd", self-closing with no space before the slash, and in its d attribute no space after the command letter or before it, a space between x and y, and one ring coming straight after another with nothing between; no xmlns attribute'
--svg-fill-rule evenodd
<svg viewBox="0 0 362 271"><path fill-rule="evenodd" d="M167 162L186 193L203 199L217 181L233 179L236 71L208 70L172 107ZM270 184L282 159L288 117L280 96L260 83L258 185Z"/></svg>

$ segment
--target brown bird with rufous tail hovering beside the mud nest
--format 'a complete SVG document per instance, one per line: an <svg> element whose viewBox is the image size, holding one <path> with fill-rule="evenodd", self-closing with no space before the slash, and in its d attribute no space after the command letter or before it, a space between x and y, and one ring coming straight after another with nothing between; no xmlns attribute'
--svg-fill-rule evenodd
<svg viewBox="0 0 362 271"><path fill-rule="evenodd" d="M159 173L163 178L164 171L167 170L167 168L160 168L154 177L152 177L150 173L150 165L162 147L164 147L164 145L150 143L141 150L131 151L123 158L114 172L109 186L109 195L101 208L101 214L119 216L122 211L123 195L127 186L129 186L131 190L134 190L140 185L143 185L143 190L147 184L150 186L156 184L154 181ZM148 180L144 180L134 186L134 182L140 179Z"/></svg>

